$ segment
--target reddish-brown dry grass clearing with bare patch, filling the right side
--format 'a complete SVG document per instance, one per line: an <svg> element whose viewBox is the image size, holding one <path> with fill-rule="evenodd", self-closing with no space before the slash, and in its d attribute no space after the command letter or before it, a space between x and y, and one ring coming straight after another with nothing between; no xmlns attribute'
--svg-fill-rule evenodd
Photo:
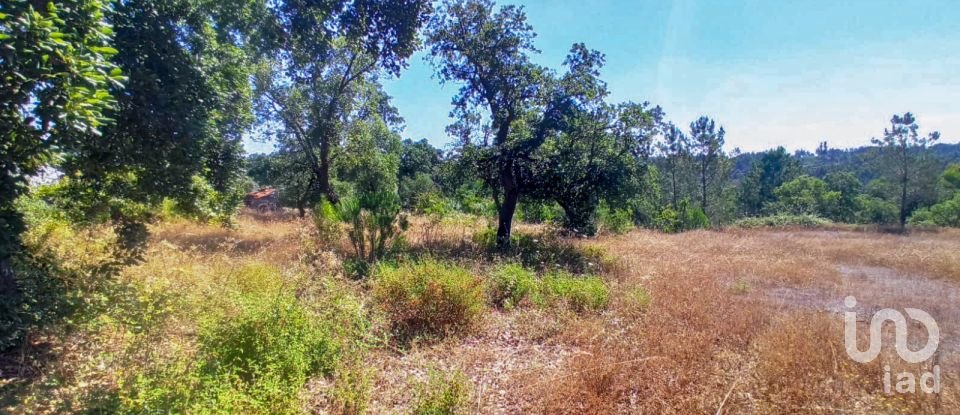
<svg viewBox="0 0 960 415"><path fill-rule="evenodd" d="M616 292L645 287L651 304L493 311L474 335L380 350L372 411L403 412L433 368L469 375L476 413L960 413L958 233L635 231L580 243L616 258ZM934 317L932 362L899 363L890 327L880 362L917 376L939 365L940 394L885 394L880 362L844 354L850 295L861 349L879 309ZM918 349L922 326L910 328Z"/></svg>

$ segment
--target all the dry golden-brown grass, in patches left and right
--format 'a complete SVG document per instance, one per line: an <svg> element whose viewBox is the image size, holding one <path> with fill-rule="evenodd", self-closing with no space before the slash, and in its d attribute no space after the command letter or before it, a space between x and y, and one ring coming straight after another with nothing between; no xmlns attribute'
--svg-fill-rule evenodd
<svg viewBox="0 0 960 415"><path fill-rule="evenodd" d="M409 249L486 275L507 260L473 242L473 234L486 226L475 218L412 218ZM338 279L340 272L338 255L312 244L310 229L309 221L252 217L242 217L236 230L163 224L153 230L146 262L123 278L153 298L168 293L215 299L224 290L265 289L250 284L309 291L317 281ZM373 341L373 349L357 357L362 362L352 363L370 369L364 375L369 378L356 381L369 383L369 390L338 392L352 390L337 384L349 376L314 379L304 390L304 409L408 412L414 404L410 391L431 371L442 371L466 375L471 413L960 413L958 231L909 236L843 229L634 231L565 243L585 253L606 280L612 295L606 310L490 307L469 333L402 350L390 340ZM249 275L257 266L283 272L276 279L212 277ZM365 284L348 287L369 300ZM300 298L312 301L307 291ZM862 320L885 307L916 307L934 315L942 331L935 358L942 368L941 394L883 393L883 364L914 372L928 370L928 364L897 363L890 349L868 365L846 356L840 313L842 299L851 294L860 301ZM174 313L158 329L163 339L149 337L138 350L161 359L188 349L194 333L186 322L203 312ZM372 330L374 337L386 332L382 323ZM133 347L116 340L123 333L111 336L98 337L101 346L95 349ZM96 364L63 356L62 367ZM128 363L112 361L108 367ZM101 374L70 382L100 382L109 389L117 380L106 372L82 372ZM345 393L361 401L345 401ZM367 397L369 402L362 402Z"/></svg>

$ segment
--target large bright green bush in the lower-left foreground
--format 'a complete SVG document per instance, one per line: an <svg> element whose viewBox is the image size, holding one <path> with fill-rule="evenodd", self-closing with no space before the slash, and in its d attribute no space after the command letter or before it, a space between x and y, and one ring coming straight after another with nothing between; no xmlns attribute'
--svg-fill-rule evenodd
<svg viewBox="0 0 960 415"><path fill-rule="evenodd" d="M306 381L329 374L340 349L332 327L292 296L246 296L206 321L194 364L137 377L122 397L131 412L300 413Z"/></svg>

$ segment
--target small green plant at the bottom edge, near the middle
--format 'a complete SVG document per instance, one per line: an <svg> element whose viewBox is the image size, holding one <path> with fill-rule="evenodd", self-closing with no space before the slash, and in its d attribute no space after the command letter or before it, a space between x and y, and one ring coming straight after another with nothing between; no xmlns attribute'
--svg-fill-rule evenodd
<svg viewBox="0 0 960 415"><path fill-rule="evenodd" d="M470 381L460 371L431 370L414 392L412 415L457 415L470 412Z"/></svg>

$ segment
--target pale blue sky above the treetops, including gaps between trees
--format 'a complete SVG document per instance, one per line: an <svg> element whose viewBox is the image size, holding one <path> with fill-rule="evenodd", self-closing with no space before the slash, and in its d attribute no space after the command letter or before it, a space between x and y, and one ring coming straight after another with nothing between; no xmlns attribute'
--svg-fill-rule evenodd
<svg viewBox="0 0 960 415"><path fill-rule="evenodd" d="M530 0L542 51L561 70L577 42L606 55L611 102L649 101L686 127L707 115L726 149L867 145L895 113L960 141L960 7L953 1ZM451 98L425 51L385 90L404 138L447 147ZM269 143L247 142L248 151Z"/></svg>

